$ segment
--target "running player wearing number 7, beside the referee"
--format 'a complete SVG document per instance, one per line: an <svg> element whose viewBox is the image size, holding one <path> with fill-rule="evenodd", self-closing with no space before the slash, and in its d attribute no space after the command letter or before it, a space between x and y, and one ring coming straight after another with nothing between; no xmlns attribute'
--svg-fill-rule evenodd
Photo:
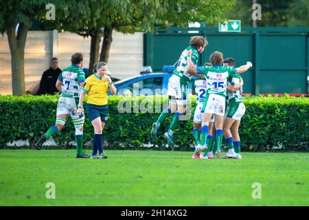
<svg viewBox="0 0 309 220"><path fill-rule="evenodd" d="M89 158L90 155L86 155L82 151L82 146L84 144L84 115L78 115L77 113L80 87L84 85L86 80L81 68L83 63L82 54L73 54L71 62L72 64L69 67L63 69L56 82L56 88L58 91L62 91L57 105L56 124L51 126L48 131L40 137L38 142L36 142L36 148L40 149L45 140L59 132L62 127L65 126L67 117L71 115L72 122L75 126L76 158Z"/></svg>

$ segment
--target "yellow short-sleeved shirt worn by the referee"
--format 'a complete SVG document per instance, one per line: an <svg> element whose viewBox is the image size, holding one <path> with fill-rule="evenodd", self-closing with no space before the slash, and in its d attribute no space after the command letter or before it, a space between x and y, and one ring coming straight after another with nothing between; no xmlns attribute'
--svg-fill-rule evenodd
<svg viewBox="0 0 309 220"><path fill-rule="evenodd" d="M104 77L100 78L97 74L89 76L82 90L88 94L88 104L107 104L108 82Z"/></svg>

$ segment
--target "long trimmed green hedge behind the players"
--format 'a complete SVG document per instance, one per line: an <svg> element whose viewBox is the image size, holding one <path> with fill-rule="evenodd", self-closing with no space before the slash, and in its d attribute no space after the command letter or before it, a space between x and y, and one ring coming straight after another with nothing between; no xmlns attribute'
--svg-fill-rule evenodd
<svg viewBox="0 0 309 220"><path fill-rule="evenodd" d="M53 125L56 119L56 96L0 96L0 148L7 148L8 142L29 140L30 147ZM119 113L119 101L130 102L127 110L133 113ZM158 148L165 149L163 133L167 131L172 117L168 118L159 129L159 136L152 139L152 122L159 113L136 112L138 104L155 103L159 100L161 109L167 104L166 96L110 96L108 97L108 122L104 129L105 148ZM135 104L135 105L134 105ZM192 107L195 98L192 97ZM308 149L309 144L309 99L284 97L247 97L244 98L246 114L240 125L242 148L261 149L279 147L283 149ZM148 105L146 105L148 106ZM135 107L135 112L133 111ZM137 108L136 108L137 107ZM194 110L194 109L193 109ZM154 110L155 111L155 110ZM87 112L85 113L87 117ZM192 114L193 117L193 114ZM192 118L191 118L192 119ZM174 142L179 150L190 150L194 145L192 120L181 121L174 132ZM61 133L55 137L60 148L71 147L74 127L71 120ZM84 123L85 142L91 142L93 127L89 119Z"/></svg>

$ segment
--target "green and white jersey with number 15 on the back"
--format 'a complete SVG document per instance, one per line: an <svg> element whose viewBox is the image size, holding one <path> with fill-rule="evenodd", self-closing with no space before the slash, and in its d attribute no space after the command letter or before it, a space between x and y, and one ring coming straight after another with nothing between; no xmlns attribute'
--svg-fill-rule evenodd
<svg viewBox="0 0 309 220"><path fill-rule="evenodd" d="M206 94L218 94L227 96L227 78L236 73L236 69L232 67L224 67L221 65L196 67L198 74L205 75L207 81Z"/></svg>

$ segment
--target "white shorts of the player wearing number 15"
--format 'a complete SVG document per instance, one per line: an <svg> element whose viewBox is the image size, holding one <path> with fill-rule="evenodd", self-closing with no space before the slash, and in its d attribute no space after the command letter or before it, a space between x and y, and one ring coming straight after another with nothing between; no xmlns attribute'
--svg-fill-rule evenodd
<svg viewBox="0 0 309 220"><path fill-rule="evenodd" d="M205 113L211 113L220 116L225 115L225 97L217 94L209 94L208 97L206 96L205 102Z"/></svg>

